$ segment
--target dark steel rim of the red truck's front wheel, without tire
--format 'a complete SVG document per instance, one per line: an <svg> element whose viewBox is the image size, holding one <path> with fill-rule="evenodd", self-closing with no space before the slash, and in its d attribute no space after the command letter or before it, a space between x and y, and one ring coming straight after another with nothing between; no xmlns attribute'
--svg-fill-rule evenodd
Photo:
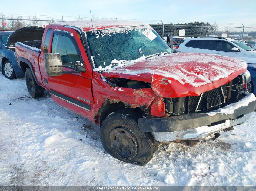
<svg viewBox="0 0 256 191"><path fill-rule="evenodd" d="M136 156L138 152L137 142L129 129L125 127L113 129L109 138L111 147L118 155L125 159L133 159Z"/></svg>

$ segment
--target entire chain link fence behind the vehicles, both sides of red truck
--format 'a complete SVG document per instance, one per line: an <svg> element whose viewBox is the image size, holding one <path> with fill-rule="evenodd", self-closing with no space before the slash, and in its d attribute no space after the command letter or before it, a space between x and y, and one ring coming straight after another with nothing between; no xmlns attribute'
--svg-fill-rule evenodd
<svg viewBox="0 0 256 191"><path fill-rule="evenodd" d="M15 16L0 14L0 20L2 24L0 25L0 30L17 30L22 27L28 26L40 26L71 20L83 20L89 19L81 16L78 17L68 17L68 16ZM93 18L98 19L98 18ZM108 18L109 19L109 18ZM113 19L113 18L112 18ZM227 37L243 39L243 40L255 40L256 39L256 27L241 27L238 26L218 26L216 23L210 25L179 25L179 24L150 24L151 27L163 38L168 34L172 36L182 36L182 37L193 37L193 36L209 36L216 35L221 37L223 34L227 34ZM185 30L185 34L180 34L180 30ZM184 32L184 31L183 31Z"/></svg>

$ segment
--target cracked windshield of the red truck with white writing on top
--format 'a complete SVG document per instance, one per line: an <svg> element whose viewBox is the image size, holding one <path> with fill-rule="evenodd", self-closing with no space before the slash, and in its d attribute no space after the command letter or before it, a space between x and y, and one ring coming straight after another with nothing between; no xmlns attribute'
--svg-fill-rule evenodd
<svg viewBox="0 0 256 191"><path fill-rule="evenodd" d="M135 60L157 53L173 53L149 26L125 27L87 32L94 67L105 68L112 60Z"/></svg>

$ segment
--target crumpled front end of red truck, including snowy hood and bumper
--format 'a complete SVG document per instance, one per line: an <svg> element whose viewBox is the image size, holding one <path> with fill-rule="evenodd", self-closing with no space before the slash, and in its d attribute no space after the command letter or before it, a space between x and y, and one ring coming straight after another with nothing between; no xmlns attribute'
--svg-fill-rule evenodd
<svg viewBox="0 0 256 191"><path fill-rule="evenodd" d="M186 56L182 53L180 59ZM243 89L250 81L246 63L212 55L189 56L189 62L177 64L177 58L166 55L102 72L111 92L106 92L104 100L137 109L143 116L138 119L140 130L151 132L160 142L204 142L246 121L256 108L254 94ZM196 56L208 61L199 67Z"/></svg>

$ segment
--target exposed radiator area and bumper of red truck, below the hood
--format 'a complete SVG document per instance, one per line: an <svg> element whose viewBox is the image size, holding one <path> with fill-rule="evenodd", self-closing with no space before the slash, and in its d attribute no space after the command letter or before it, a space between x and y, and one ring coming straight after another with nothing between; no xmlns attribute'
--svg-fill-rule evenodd
<svg viewBox="0 0 256 191"><path fill-rule="evenodd" d="M233 126L248 120L256 108L254 94L243 90L248 83L248 71L218 88L199 96L165 98L168 118L139 119L141 131L151 132L160 142L180 142L193 145L219 136L218 132L233 130Z"/></svg>

